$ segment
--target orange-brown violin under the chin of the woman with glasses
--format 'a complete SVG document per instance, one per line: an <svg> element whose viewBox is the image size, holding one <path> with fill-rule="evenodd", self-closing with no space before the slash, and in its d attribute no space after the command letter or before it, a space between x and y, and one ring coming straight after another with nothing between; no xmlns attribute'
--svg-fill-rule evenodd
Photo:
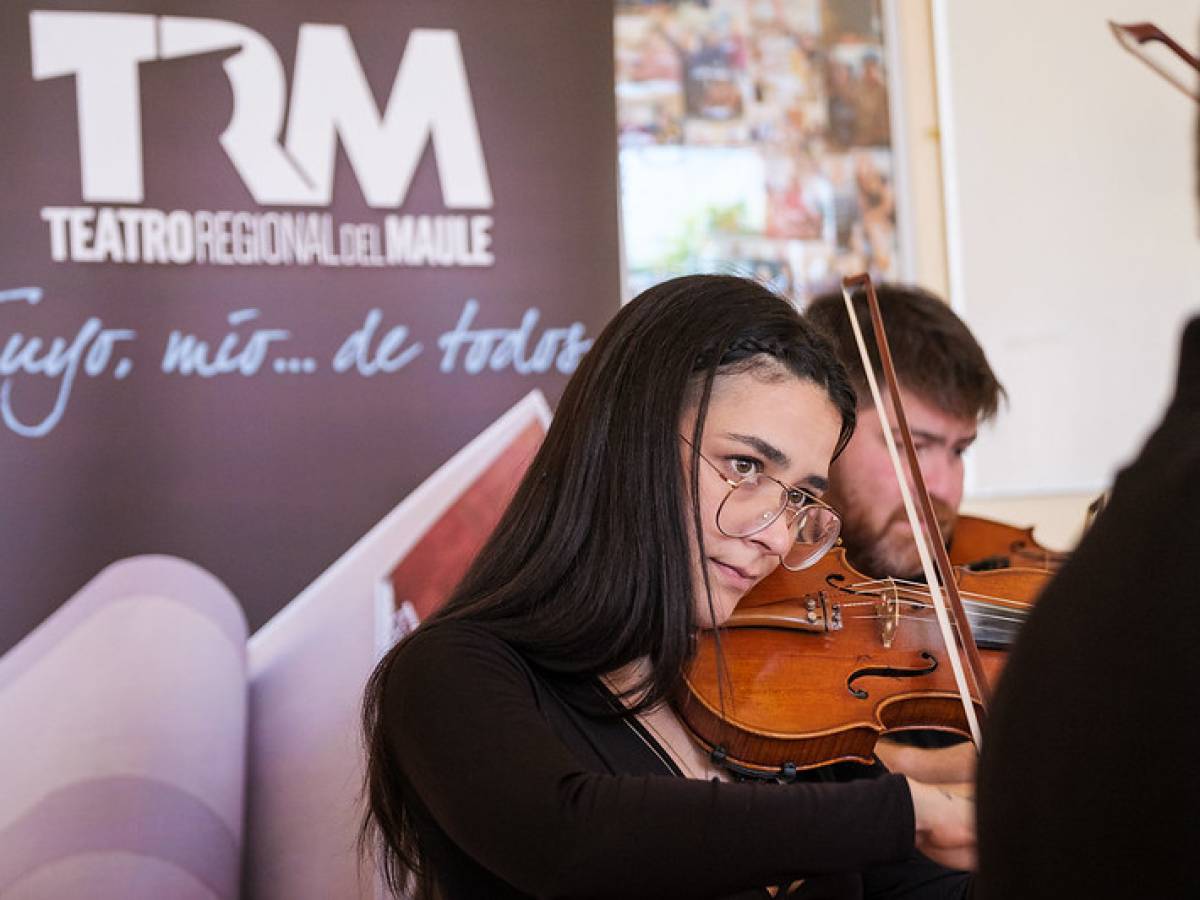
<svg viewBox="0 0 1200 900"><path fill-rule="evenodd" d="M1039 569L955 578L989 676L1050 578ZM703 632L677 712L714 762L791 779L832 762L874 762L883 732L971 732L929 589L872 580L835 548L814 566L780 566ZM977 712L983 703L972 695Z"/></svg>

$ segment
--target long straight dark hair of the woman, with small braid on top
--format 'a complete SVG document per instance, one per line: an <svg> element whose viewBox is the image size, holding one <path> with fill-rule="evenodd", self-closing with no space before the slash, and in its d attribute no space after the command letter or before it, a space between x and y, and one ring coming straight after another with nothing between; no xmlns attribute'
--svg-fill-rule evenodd
<svg viewBox="0 0 1200 900"><path fill-rule="evenodd" d="M421 628L484 624L533 664L577 674L649 660L635 709L671 697L697 630L690 535L700 541L698 456L690 488L679 421L697 406L700 446L720 371L780 367L810 380L854 427L854 392L829 346L785 299L757 282L695 275L626 305L571 377L553 424L503 518L446 604ZM706 572L707 578L707 572ZM389 887L436 896L404 803L403 762L385 739L388 677L404 642L372 673L364 701L364 847Z"/></svg>

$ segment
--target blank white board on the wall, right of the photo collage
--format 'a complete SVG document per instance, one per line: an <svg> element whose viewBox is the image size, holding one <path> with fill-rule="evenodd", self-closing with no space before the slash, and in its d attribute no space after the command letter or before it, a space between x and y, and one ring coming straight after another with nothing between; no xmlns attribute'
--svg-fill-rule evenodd
<svg viewBox="0 0 1200 900"><path fill-rule="evenodd" d="M1010 400L974 498L1106 486L1200 312L1196 106L1110 18L1200 34L1188 0L934 2L950 300Z"/></svg>

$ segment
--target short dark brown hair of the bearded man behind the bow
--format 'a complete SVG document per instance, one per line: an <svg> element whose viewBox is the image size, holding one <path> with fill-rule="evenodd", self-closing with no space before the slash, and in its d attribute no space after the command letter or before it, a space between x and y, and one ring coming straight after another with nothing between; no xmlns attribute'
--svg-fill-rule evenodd
<svg viewBox="0 0 1200 900"><path fill-rule="evenodd" d="M1004 388L991 371L979 342L948 304L924 288L880 284L875 288L888 334L896 376L905 390L950 415L986 420L996 414ZM882 379L875 328L863 292L854 310L871 356L876 379ZM834 346L862 407L871 406L866 374L854 343L841 293L812 300L805 316ZM882 386L882 380L880 380Z"/></svg>

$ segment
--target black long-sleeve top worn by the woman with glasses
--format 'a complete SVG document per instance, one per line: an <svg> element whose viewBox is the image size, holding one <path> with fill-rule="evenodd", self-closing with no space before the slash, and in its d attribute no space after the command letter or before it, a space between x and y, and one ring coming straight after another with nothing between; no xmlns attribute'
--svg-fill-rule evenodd
<svg viewBox="0 0 1200 900"><path fill-rule="evenodd" d="M967 876L914 856L904 778L678 778L613 703L480 625L408 640L385 686L389 748L446 898L761 898L797 878L802 898L965 893Z"/></svg>

